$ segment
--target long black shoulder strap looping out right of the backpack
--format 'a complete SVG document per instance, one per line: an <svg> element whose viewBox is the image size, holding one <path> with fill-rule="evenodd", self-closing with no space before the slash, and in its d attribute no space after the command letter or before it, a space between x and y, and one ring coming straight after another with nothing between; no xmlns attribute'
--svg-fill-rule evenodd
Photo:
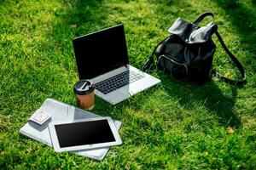
<svg viewBox="0 0 256 170"><path fill-rule="evenodd" d="M233 54L231 54L229 48L227 48L226 45L224 44L224 41L223 41L222 37L219 35L218 31L216 31L215 34L218 37L218 41L224 48L225 52L230 56L230 59L232 59L232 61L236 64L236 67L240 71L241 80L234 80L234 79L230 79L228 77L224 77L222 74L218 73L218 71L215 71L214 69L212 70L212 74L214 76L218 77L220 80L230 83L230 84L236 84L236 85L244 84L246 82L246 73L245 73L241 63L239 62L238 59L236 59L236 57Z"/></svg>

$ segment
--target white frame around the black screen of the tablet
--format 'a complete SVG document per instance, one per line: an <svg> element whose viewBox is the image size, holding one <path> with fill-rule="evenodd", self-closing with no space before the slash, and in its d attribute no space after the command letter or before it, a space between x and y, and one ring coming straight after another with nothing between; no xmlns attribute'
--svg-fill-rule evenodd
<svg viewBox="0 0 256 170"><path fill-rule="evenodd" d="M99 120L107 120L108 125L113 133L113 137L115 139L114 142L106 142L106 143L100 143L100 144L84 144L84 145L78 145L78 146L69 146L69 147L60 147L59 140L55 131L55 125L61 125L61 124L69 124L69 123L76 123L76 122L91 122L91 121L99 121ZM88 118L88 119L80 119L80 120L74 120L74 121L61 121L61 122L50 122L49 123L49 133L51 136L52 145L54 147L54 150L57 152L62 151L72 151L72 150L91 150L96 148L103 148L113 145L119 145L122 144L122 140L120 139L118 130L116 129L113 120L111 117L95 117L95 118Z"/></svg>

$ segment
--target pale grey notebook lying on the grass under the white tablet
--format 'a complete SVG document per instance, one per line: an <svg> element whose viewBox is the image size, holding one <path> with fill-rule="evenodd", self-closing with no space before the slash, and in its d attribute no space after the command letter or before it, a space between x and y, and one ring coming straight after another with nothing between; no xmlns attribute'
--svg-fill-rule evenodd
<svg viewBox="0 0 256 170"><path fill-rule="evenodd" d="M46 99L44 104L38 109L38 111L44 111L48 113L51 118L44 122L43 125L38 125L35 122L27 122L26 125L20 128L20 133L31 138L36 139L44 144L52 147L48 124L49 122L63 121L63 120L79 120L85 118L99 117L98 115L91 113L89 111L84 111L73 105L67 105L55 99ZM35 114L35 113L34 113ZM117 130L121 127L122 122L113 120ZM79 156L88 156L92 159L102 160L109 147L96 149L96 150L78 150L72 151Z"/></svg>

